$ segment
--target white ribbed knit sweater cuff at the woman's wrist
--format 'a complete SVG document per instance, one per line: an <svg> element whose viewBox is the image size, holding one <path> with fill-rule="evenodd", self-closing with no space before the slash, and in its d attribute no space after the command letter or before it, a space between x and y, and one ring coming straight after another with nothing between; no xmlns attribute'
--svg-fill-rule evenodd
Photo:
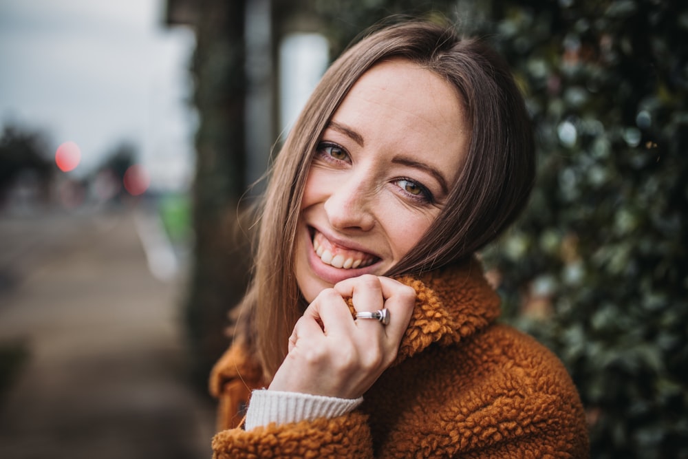
<svg viewBox="0 0 688 459"><path fill-rule="evenodd" d="M251 394L245 429L270 423L298 423L301 420L336 418L352 412L363 402L354 399L258 389Z"/></svg>

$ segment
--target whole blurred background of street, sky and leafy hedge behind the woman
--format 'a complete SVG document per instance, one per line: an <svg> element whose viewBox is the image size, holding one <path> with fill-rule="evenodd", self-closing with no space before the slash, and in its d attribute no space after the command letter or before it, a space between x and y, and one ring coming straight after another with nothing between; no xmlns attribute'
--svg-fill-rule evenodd
<svg viewBox="0 0 688 459"><path fill-rule="evenodd" d="M571 372L592 457L688 458L679 0L0 0L0 457L210 456L241 211L394 14L483 36L526 95L539 180L481 255Z"/></svg>

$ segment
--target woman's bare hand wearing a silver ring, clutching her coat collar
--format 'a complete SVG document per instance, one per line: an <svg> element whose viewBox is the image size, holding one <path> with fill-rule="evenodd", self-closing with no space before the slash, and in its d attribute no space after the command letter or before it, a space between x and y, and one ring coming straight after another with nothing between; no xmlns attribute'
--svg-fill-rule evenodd
<svg viewBox="0 0 688 459"><path fill-rule="evenodd" d="M390 321L355 319L356 312L389 310ZM268 389L358 398L396 359L416 303L413 288L388 277L363 275L323 290L289 338L289 353Z"/></svg>

